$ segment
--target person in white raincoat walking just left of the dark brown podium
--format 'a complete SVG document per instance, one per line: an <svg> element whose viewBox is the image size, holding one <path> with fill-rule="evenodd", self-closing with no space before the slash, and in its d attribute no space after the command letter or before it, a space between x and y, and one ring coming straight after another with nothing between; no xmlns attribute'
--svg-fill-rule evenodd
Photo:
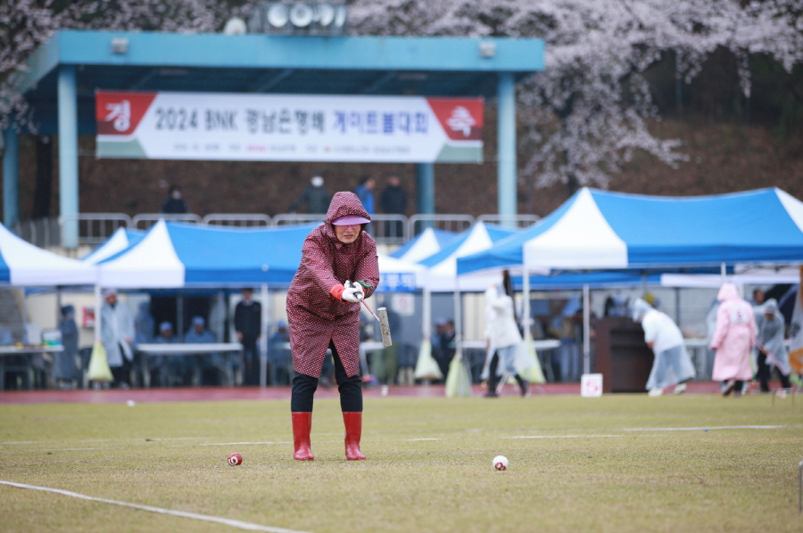
<svg viewBox="0 0 803 533"><path fill-rule="evenodd" d="M485 290L485 365L482 379L487 380L488 390L485 396L493 398L499 376L509 373L516 378L522 396L529 395L529 383L519 375L526 370L526 357L523 340L518 331L513 299L501 292L496 285ZM528 361L527 361L528 362Z"/></svg>

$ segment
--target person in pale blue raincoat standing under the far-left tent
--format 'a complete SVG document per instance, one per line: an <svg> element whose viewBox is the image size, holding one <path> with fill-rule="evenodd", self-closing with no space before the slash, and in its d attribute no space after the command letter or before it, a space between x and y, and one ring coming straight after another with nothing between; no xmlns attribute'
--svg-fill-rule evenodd
<svg viewBox="0 0 803 533"><path fill-rule="evenodd" d="M117 300L117 291L103 291L106 301L101 308L101 342L106 350L106 362L112 370L113 386L129 387L131 365L134 361L134 320L128 306Z"/></svg>

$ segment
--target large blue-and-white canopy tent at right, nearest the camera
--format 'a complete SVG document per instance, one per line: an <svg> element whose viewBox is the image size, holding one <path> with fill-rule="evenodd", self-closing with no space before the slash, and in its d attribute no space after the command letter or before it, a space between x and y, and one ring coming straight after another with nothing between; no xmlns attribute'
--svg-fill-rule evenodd
<svg viewBox="0 0 803 533"><path fill-rule="evenodd" d="M563 270L724 271L801 262L803 202L780 189L670 198L584 188L523 234L459 258L458 274L513 268L527 285L530 273Z"/></svg>

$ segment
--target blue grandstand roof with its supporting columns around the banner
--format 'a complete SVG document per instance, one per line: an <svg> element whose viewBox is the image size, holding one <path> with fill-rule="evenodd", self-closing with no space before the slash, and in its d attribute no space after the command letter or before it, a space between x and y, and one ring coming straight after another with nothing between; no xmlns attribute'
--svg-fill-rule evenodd
<svg viewBox="0 0 803 533"><path fill-rule="evenodd" d="M33 53L21 90L38 133L60 136L61 216L79 212L78 135L95 134L95 91L484 96L499 99L500 214L516 211L517 80L543 69L540 39L325 37L61 30ZM16 132L5 132L4 221L19 218ZM434 165L418 165L423 213ZM420 204L420 201L419 201ZM78 243L78 225L63 244Z"/></svg>

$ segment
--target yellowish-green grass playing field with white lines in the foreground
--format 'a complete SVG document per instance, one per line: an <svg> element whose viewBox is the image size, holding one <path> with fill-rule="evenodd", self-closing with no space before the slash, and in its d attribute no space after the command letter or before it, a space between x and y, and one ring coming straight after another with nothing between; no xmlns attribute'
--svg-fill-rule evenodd
<svg viewBox="0 0 803 533"><path fill-rule="evenodd" d="M0 406L0 480L316 533L803 531L803 397L374 398L362 462L319 400L316 460L291 442L279 400ZM6 485L0 516L2 531L237 530Z"/></svg>

